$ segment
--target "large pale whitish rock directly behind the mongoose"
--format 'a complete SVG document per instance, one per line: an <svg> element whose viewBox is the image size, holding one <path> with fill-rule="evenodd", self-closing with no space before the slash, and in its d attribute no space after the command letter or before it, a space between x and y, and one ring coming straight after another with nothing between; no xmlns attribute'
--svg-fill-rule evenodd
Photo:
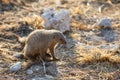
<svg viewBox="0 0 120 80"><path fill-rule="evenodd" d="M68 10L61 9L56 12L53 8L46 8L43 11L42 18L45 29L56 29L61 32L70 31L71 18Z"/></svg>

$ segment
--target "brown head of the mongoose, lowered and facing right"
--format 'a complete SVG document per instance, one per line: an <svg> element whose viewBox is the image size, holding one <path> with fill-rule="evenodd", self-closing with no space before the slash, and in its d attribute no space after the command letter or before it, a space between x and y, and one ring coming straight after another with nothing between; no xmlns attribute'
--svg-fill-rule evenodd
<svg viewBox="0 0 120 80"><path fill-rule="evenodd" d="M66 44L67 41L65 39L65 36L61 32L55 32L53 36L55 42L60 43L60 44Z"/></svg>

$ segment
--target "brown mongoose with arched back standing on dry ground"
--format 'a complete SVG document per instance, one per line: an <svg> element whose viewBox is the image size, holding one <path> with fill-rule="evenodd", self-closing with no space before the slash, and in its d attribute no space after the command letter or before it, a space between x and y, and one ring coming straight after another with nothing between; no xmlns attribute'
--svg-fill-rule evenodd
<svg viewBox="0 0 120 80"><path fill-rule="evenodd" d="M37 58L45 60L47 50L49 49L53 60L59 60L54 55L55 45L66 44L64 35L58 30L35 30L28 35L25 41L23 55L35 61Z"/></svg>

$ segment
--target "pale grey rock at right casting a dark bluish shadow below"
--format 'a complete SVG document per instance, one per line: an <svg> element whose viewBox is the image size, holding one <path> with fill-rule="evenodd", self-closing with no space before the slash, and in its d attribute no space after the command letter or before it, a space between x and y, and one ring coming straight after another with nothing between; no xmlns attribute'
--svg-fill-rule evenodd
<svg viewBox="0 0 120 80"><path fill-rule="evenodd" d="M112 24L111 24L110 19L108 19L108 18L102 18L98 22L98 26L101 27L101 28L111 28Z"/></svg>

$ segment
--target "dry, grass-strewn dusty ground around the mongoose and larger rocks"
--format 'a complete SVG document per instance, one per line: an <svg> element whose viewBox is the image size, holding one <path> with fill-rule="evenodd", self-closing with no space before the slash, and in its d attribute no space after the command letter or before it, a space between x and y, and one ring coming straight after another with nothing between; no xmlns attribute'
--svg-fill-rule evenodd
<svg viewBox="0 0 120 80"><path fill-rule="evenodd" d="M109 0L108 0L109 1ZM10 72L24 44L17 40L41 29L45 7L70 10L71 31L65 34L66 47L57 47L60 61L33 65L28 70ZM110 18L111 29L95 27L101 18ZM0 80L120 80L120 1L25 0L0 1Z"/></svg>

